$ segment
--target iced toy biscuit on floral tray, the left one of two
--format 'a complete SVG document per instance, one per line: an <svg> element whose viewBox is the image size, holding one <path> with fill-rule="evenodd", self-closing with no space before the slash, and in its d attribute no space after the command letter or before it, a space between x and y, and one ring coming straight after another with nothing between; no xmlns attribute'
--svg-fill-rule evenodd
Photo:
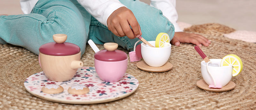
<svg viewBox="0 0 256 110"><path fill-rule="evenodd" d="M48 93L48 94L61 93L61 92L63 92L63 90L64 90L63 87L56 85L56 84L45 85L42 88L42 92Z"/></svg>

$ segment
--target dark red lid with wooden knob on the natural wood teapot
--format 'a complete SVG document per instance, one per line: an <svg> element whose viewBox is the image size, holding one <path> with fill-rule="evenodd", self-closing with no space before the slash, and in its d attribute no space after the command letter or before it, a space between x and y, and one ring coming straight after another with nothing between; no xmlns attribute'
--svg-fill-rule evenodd
<svg viewBox="0 0 256 110"><path fill-rule="evenodd" d="M66 34L54 34L52 37L55 42L40 46L39 52L53 56L74 55L80 52L79 46L65 42L67 40Z"/></svg>

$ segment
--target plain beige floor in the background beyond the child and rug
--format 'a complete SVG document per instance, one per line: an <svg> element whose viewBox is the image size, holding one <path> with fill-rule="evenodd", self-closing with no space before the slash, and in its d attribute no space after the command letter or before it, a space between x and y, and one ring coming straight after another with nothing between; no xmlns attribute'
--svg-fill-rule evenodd
<svg viewBox="0 0 256 110"><path fill-rule="evenodd" d="M22 14L19 2L0 0L0 14ZM255 0L177 0L176 9L180 22L220 23L236 30L256 31Z"/></svg>

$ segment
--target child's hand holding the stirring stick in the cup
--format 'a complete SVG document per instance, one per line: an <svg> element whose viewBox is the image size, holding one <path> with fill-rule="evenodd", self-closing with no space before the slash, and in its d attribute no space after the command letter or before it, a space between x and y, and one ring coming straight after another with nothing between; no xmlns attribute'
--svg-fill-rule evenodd
<svg viewBox="0 0 256 110"><path fill-rule="evenodd" d="M108 30L116 36L127 36L130 39L141 36L140 25L132 11L126 7L115 10L107 20ZM130 25L132 29L130 28Z"/></svg>

